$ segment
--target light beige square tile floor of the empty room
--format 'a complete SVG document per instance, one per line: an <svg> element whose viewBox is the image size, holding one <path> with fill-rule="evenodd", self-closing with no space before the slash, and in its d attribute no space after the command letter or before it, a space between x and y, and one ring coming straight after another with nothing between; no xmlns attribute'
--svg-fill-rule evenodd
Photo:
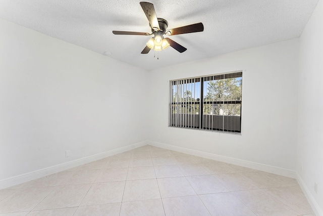
<svg viewBox="0 0 323 216"><path fill-rule="evenodd" d="M0 190L0 215L314 215L295 179L154 146Z"/></svg>

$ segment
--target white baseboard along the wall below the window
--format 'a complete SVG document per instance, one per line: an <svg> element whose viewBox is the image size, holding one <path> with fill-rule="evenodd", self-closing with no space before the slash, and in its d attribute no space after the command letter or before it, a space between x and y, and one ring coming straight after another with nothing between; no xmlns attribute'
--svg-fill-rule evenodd
<svg viewBox="0 0 323 216"><path fill-rule="evenodd" d="M211 154L211 153L207 153L207 152L172 146L172 145L168 145L168 144L164 144L164 143L158 143L158 142L153 142L153 141L147 141L147 142L149 145L164 148L164 149L179 151L179 152L183 152L186 154L191 154L191 155L204 157L204 158L208 158L208 159L212 159L212 160L218 160L221 162L231 163L231 164L244 166L244 167L248 167L248 168L252 168L252 169L257 169L257 170L261 170L261 171L265 171L265 172L271 172L273 174L296 179L296 172L293 170L289 170L289 169L284 169L284 168L280 168L280 167L276 167L276 166L251 162L251 161L247 161L247 160L241 160L241 159L237 159L237 158L226 157L226 156L222 156L222 155Z"/></svg>

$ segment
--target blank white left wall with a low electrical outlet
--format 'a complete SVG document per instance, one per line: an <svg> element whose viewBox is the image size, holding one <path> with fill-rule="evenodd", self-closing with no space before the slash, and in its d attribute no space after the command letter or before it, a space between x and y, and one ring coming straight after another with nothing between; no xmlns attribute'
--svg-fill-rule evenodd
<svg viewBox="0 0 323 216"><path fill-rule="evenodd" d="M146 140L146 71L5 20L0 29L0 180Z"/></svg>

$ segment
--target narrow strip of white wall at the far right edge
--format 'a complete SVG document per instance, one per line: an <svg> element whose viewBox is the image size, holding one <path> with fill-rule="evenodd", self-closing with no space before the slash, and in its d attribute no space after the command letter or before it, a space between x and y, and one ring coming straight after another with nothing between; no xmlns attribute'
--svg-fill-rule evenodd
<svg viewBox="0 0 323 216"><path fill-rule="evenodd" d="M323 215L323 2L300 37L297 172ZM302 167L302 170L301 170ZM314 193L314 182L318 184Z"/></svg>

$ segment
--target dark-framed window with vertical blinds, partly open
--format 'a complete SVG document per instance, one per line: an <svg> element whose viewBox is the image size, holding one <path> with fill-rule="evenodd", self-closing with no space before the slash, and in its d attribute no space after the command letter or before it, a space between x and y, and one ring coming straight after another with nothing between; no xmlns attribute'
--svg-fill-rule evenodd
<svg viewBox="0 0 323 216"><path fill-rule="evenodd" d="M242 71L170 81L169 126L241 133Z"/></svg>

